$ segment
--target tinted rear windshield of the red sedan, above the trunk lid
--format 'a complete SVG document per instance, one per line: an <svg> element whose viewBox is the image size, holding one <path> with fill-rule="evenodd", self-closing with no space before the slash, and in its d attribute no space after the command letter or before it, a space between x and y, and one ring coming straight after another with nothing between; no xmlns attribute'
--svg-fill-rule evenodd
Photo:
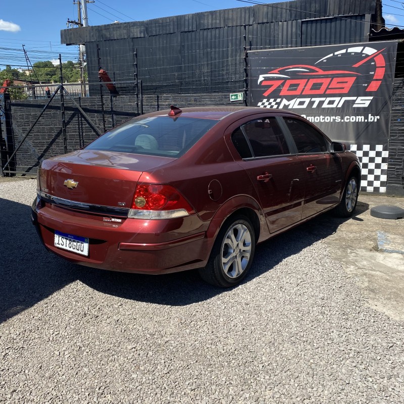
<svg viewBox="0 0 404 404"><path fill-rule="evenodd" d="M216 123L213 119L181 117L135 118L95 139L86 148L180 157Z"/></svg>

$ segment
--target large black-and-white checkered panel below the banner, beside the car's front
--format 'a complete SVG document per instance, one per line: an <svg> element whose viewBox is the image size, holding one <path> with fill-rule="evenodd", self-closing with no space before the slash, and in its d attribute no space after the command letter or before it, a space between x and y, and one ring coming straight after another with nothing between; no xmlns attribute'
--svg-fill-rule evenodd
<svg viewBox="0 0 404 404"><path fill-rule="evenodd" d="M386 192L388 150L382 144L351 144L350 151L355 153L362 168L361 190L366 192Z"/></svg>

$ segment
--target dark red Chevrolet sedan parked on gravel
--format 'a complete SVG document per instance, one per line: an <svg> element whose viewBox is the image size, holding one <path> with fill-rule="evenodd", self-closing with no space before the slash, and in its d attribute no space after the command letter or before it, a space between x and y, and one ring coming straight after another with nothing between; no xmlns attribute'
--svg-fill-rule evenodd
<svg viewBox="0 0 404 404"><path fill-rule="evenodd" d="M360 179L354 154L291 112L171 107L43 161L32 221L77 264L198 268L230 287L257 243L330 209L351 216Z"/></svg>

